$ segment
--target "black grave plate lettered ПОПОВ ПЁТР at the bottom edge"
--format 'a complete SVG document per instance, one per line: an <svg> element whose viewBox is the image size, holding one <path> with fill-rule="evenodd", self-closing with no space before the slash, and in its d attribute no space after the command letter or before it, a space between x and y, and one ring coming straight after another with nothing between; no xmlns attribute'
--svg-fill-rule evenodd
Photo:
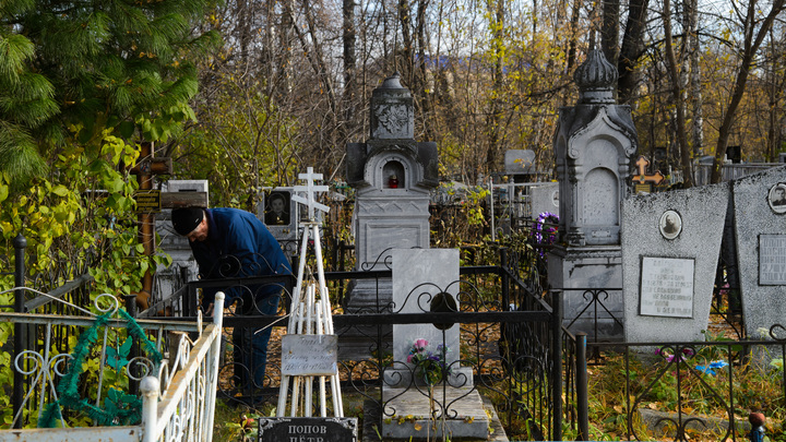
<svg viewBox="0 0 786 442"><path fill-rule="evenodd" d="M259 418L259 442L357 442L357 418Z"/></svg>

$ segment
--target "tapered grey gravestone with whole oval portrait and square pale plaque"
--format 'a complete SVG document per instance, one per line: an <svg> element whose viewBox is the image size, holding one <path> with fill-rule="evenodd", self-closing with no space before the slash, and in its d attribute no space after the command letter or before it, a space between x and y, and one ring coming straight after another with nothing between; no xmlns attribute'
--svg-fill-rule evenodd
<svg viewBox="0 0 786 442"><path fill-rule="evenodd" d="M622 202L622 275L624 294L624 334L629 343L704 341L717 270L720 241L728 204L728 183L634 195ZM674 217L674 214L677 217ZM667 219L668 218L668 219ZM674 226L672 226L674 224ZM670 239L669 239L670 238ZM642 268L644 261L662 262L658 271L668 275L644 275L645 284L663 283L664 290L681 284L676 265L692 262L692 311L684 306L665 306L666 311L642 314ZM654 267L653 267L654 268ZM652 270L651 270L652 272ZM674 280L672 280L674 279ZM690 285L691 282L684 284ZM647 288L645 287L645 292ZM646 300L652 299L645 295ZM677 295L674 295L677 296ZM681 295L680 295L681 296ZM665 299L658 297L658 301ZM654 307L654 306L651 306ZM645 309L646 310L646 309ZM679 313L679 314L678 314Z"/></svg>

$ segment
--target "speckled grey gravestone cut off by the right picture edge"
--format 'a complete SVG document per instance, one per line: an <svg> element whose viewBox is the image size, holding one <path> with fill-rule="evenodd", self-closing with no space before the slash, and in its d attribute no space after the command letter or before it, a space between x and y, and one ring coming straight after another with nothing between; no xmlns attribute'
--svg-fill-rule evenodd
<svg viewBox="0 0 786 442"><path fill-rule="evenodd" d="M786 238L786 206L772 205L774 189L784 182L786 166L740 178L731 184L742 314L746 333L754 338L759 338L759 327L769 330L773 324L786 325L786 287L761 284L760 279L761 237Z"/></svg>

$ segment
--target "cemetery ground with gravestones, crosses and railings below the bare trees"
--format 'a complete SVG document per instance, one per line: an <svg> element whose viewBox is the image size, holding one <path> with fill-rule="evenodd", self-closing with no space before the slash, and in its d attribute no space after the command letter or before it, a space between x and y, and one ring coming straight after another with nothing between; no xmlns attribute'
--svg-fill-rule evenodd
<svg viewBox="0 0 786 442"><path fill-rule="evenodd" d="M391 73L368 138L342 146L345 186L307 165L246 211L286 256L274 272L273 252L212 251L205 268L190 236L229 236L213 181L118 143L134 184L102 183L133 196L90 192L111 241L28 244L1 225L19 231L0 440L786 440L786 165L667 189L617 76L602 50L575 69L553 181L522 150L473 188L442 184ZM133 235L116 234L121 208ZM190 208L210 211L183 230ZM105 266L59 277L55 246Z"/></svg>

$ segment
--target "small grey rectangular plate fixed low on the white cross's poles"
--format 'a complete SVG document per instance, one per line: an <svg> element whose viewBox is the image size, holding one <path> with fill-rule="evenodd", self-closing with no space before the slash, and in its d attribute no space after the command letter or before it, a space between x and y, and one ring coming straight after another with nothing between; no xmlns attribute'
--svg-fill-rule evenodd
<svg viewBox="0 0 786 442"><path fill-rule="evenodd" d="M338 374L338 336L284 335L282 374L290 377Z"/></svg>

